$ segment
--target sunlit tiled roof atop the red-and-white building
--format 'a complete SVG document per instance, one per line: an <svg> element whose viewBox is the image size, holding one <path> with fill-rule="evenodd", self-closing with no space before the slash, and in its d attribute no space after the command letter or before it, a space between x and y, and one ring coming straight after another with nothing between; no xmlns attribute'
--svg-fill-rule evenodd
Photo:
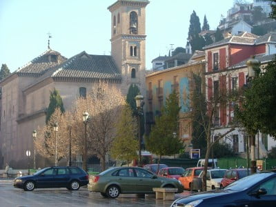
<svg viewBox="0 0 276 207"><path fill-rule="evenodd" d="M228 37L226 39L222 39L221 41L217 41L217 42L212 43L208 46L205 46L204 49L214 48L214 47L217 47L217 46L222 46L222 45L225 45L227 43L254 45L255 39L257 37L258 36L255 35L255 34L251 34L251 33L248 33L248 32L241 32L237 35L233 35L232 37Z"/></svg>

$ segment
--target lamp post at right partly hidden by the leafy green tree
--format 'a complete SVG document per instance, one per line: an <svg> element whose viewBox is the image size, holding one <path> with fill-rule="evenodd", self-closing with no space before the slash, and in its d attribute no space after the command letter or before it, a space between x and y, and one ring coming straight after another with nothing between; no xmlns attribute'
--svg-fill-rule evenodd
<svg viewBox="0 0 276 207"><path fill-rule="evenodd" d="M248 68L248 83L255 77L255 68L259 67L259 61L255 57L251 57L246 61L246 66ZM255 159L255 134L250 133L250 153L251 153L251 173L257 172L256 159Z"/></svg>

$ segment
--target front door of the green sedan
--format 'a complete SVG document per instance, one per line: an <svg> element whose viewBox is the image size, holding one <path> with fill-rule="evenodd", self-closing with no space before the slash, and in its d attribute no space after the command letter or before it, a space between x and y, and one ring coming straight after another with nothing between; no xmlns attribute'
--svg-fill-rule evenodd
<svg viewBox="0 0 276 207"><path fill-rule="evenodd" d="M153 173L141 168L135 168L135 172L137 177L137 191L139 193L152 193L152 188L161 187L161 181L158 178L152 178Z"/></svg>

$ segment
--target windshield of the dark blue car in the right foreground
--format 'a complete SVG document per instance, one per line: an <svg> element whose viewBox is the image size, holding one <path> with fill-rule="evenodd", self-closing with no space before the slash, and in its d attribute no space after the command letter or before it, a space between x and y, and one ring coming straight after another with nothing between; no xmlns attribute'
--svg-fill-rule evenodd
<svg viewBox="0 0 276 207"><path fill-rule="evenodd" d="M250 186L257 184L257 182L261 181L262 179L265 179L266 177L269 177L270 175L271 173L258 173L254 175L249 175L226 186L224 190L246 190Z"/></svg>

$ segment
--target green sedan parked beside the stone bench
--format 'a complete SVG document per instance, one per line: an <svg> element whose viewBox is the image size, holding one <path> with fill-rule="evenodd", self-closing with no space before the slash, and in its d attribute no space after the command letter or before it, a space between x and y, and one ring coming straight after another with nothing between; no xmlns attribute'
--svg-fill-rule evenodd
<svg viewBox="0 0 276 207"><path fill-rule="evenodd" d="M117 167L105 170L92 177L90 190L103 197L116 198L120 193L154 193L152 188L184 188L177 179L157 177L154 173L139 167Z"/></svg>

